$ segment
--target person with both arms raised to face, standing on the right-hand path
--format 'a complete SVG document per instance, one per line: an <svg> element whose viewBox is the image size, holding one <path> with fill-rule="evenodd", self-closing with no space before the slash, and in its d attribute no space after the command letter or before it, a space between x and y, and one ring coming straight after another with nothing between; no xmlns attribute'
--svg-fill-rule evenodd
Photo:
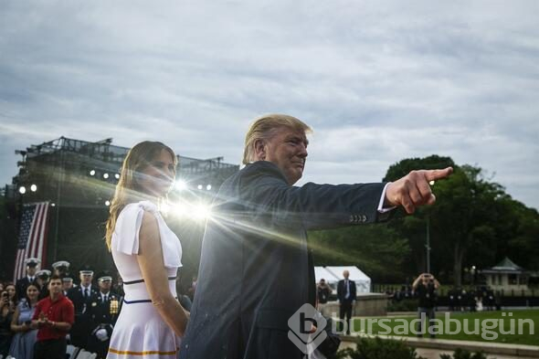
<svg viewBox="0 0 539 359"><path fill-rule="evenodd" d="M419 322L417 325L417 337L421 338L425 331L421 331L423 325L423 319L428 317L428 333L431 338L434 338L435 334L430 332L430 327L434 323L435 319L435 307L437 300L437 290L439 289L439 281L434 278L430 273L419 274L414 284L412 285L415 293L418 297L417 314L419 315Z"/></svg>

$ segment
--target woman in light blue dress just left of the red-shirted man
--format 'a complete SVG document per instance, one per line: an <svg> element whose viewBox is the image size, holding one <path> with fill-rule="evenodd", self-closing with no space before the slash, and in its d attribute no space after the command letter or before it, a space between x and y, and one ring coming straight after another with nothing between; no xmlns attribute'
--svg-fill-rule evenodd
<svg viewBox="0 0 539 359"><path fill-rule="evenodd" d="M36 311L39 287L36 283L26 286L26 297L22 298L16 306L11 330L15 333L9 348L9 354L16 359L32 359L34 345L37 341L37 329L32 329L32 316Z"/></svg>

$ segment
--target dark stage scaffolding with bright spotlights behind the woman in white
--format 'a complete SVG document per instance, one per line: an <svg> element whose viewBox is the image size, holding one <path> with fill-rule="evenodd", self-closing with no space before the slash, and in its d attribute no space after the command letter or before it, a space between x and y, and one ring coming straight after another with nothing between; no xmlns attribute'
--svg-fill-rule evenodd
<svg viewBox="0 0 539 359"><path fill-rule="evenodd" d="M26 203L48 201L54 207L49 218L48 263L66 259L111 269L102 240L104 223L128 152L129 148L112 144L112 139L88 142L66 137L16 151L22 159L12 185L5 186L5 200L16 207L16 212ZM176 195L191 195L206 203L211 202L225 179L239 170L238 165L223 162L223 157L177 157L176 177L189 190ZM180 231L193 230L185 223L171 226L181 227ZM196 235L189 235L196 238L195 242L200 240L199 229Z"/></svg>

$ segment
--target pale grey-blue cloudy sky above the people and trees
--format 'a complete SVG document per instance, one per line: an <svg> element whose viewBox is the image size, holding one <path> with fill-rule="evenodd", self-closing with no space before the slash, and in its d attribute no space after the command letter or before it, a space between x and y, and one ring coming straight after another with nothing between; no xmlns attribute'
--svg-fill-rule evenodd
<svg viewBox="0 0 539 359"><path fill-rule="evenodd" d="M537 1L2 1L0 184L59 136L241 159L260 114L312 125L303 182L409 157L539 208Z"/></svg>

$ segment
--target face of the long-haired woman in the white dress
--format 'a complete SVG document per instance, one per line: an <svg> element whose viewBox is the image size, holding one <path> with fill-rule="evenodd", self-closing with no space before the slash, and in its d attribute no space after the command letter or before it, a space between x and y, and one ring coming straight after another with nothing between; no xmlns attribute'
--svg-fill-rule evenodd
<svg viewBox="0 0 539 359"><path fill-rule="evenodd" d="M174 185L174 177L174 158L171 153L163 149L139 173L137 183L141 186L144 193L162 197Z"/></svg>

